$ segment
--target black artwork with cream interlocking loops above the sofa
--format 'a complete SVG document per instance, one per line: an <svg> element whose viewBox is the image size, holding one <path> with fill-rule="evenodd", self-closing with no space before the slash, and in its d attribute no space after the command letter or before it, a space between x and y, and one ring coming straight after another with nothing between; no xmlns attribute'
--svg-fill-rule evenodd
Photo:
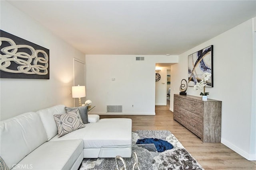
<svg viewBox="0 0 256 170"><path fill-rule="evenodd" d="M49 49L0 30L0 78L49 79Z"/></svg>

